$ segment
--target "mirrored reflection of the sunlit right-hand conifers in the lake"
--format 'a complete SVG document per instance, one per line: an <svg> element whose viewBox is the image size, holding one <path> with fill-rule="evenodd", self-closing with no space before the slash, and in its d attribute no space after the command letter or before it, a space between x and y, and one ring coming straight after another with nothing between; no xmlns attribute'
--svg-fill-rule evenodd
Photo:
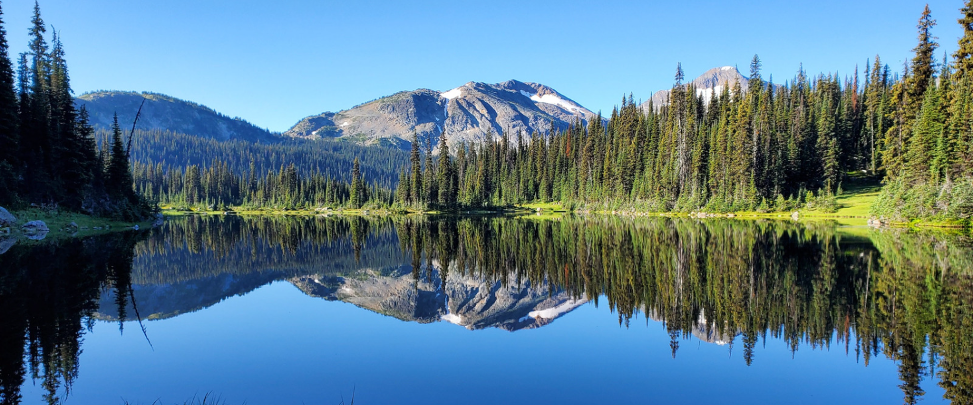
<svg viewBox="0 0 973 405"><path fill-rule="evenodd" d="M823 223L716 219L394 220L416 281L550 286L607 304L620 324L665 322L673 356L691 334L728 342L747 365L768 339L795 355L844 350L866 366L884 356L903 403L928 383L952 403L973 401L963 237L886 229L868 243Z"/></svg>

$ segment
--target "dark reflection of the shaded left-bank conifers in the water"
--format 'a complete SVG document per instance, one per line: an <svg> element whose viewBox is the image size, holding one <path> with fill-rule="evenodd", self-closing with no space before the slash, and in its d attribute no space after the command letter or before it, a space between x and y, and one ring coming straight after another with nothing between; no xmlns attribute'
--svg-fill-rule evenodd
<svg viewBox="0 0 973 405"><path fill-rule="evenodd" d="M82 336L103 290L113 291L126 317L138 238L121 233L19 243L0 255L0 403L19 403L28 375L45 389L48 403L70 393Z"/></svg>

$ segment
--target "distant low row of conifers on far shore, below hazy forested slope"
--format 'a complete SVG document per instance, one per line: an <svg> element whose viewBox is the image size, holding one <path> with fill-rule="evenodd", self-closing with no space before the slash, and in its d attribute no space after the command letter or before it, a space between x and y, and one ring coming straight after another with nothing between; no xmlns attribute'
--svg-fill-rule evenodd
<svg viewBox="0 0 973 405"><path fill-rule="evenodd" d="M261 172L253 160L244 174L214 159L207 167L165 169L162 163L133 167L135 189L146 198L178 208L229 209L275 208L285 210L324 207L387 207L392 202L389 187L367 185L360 163L352 163L351 182L313 172L301 174L297 165L281 165L276 171Z"/></svg>

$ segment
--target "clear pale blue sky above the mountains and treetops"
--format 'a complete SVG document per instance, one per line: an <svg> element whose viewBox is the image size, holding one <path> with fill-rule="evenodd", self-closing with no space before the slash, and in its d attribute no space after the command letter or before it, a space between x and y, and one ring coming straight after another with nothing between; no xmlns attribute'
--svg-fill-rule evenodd
<svg viewBox="0 0 973 405"><path fill-rule="evenodd" d="M955 51L962 0L931 0ZM920 0L249 1L41 0L72 87L155 91L283 131L400 90L509 79L547 84L593 111L647 99L754 53L764 76L847 75L880 54L900 71ZM3 0L12 53L33 2Z"/></svg>

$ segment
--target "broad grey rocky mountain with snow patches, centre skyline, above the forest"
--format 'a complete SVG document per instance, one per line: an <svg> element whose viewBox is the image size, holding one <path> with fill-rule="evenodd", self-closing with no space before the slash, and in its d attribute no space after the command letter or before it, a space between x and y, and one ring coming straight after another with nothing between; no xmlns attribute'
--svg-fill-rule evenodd
<svg viewBox="0 0 973 405"><path fill-rule="evenodd" d="M489 132L529 136L592 118L595 113L544 84L470 82L443 92L400 91L349 110L307 117L284 136L408 148L413 132L435 144L445 130L454 146L485 140Z"/></svg>

